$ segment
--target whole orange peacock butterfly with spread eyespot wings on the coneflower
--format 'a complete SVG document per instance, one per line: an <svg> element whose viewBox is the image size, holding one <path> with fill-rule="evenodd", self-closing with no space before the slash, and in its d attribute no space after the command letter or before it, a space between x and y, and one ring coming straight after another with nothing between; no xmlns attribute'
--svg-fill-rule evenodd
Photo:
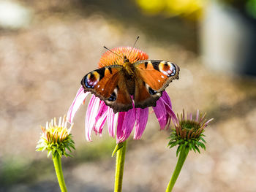
<svg viewBox="0 0 256 192"><path fill-rule="evenodd" d="M179 67L169 61L131 63L124 56L123 64L89 72L81 84L85 92L94 93L113 108L113 112L121 112L132 109L133 101L135 107L155 107L162 91L172 80L178 79L178 73Z"/></svg>

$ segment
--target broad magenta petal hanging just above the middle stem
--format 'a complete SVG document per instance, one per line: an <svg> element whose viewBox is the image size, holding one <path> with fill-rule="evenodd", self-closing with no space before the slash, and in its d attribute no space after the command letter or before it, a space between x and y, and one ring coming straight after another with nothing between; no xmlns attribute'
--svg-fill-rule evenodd
<svg viewBox="0 0 256 192"><path fill-rule="evenodd" d="M119 112L118 125L116 129L116 142L124 142L132 132L136 120L136 109L128 112Z"/></svg>

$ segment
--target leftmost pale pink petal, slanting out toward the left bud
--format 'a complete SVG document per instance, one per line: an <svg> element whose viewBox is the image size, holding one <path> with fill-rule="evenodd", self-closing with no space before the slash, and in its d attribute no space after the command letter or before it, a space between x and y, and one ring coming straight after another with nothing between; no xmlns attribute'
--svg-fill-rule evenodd
<svg viewBox="0 0 256 192"><path fill-rule="evenodd" d="M69 107L69 111L67 112L67 121L69 123L73 122L73 119L75 117L75 113L78 111L78 108L81 104L83 104L83 101L86 99L86 96L88 96L89 92L84 93L83 87L80 86L78 89L78 93L75 96L74 101L72 101L71 106Z"/></svg>

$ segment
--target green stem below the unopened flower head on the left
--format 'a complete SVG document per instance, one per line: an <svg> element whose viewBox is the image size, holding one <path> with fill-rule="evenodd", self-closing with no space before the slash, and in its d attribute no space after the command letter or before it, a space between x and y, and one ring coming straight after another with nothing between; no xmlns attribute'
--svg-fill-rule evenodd
<svg viewBox="0 0 256 192"><path fill-rule="evenodd" d="M63 172L62 172L62 168L61 168L61 157L60 157L60 155L55 155L55 157L53 157L53 164L54 164L54 168L55 168L55 171L56 171L56 176L58 178L59 187L61 188L61 191L62 192L67 192L67 187L65 185Z"/></svg>

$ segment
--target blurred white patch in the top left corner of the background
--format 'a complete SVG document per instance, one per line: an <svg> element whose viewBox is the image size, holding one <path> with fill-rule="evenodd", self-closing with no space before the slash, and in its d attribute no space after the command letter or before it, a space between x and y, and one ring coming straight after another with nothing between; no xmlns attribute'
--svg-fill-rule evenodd
<svg viewBox="0 0 256 192"><path fill-rule="evenodd" d="M15 1L0 1L0 28L25 28L31 21L31 11Z"/></svg>

